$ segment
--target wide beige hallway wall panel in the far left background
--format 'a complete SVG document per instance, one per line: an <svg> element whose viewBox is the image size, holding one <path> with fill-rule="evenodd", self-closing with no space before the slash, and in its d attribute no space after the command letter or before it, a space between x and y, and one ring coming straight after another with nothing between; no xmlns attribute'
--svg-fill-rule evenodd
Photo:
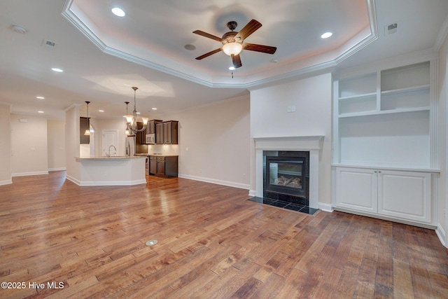
<svg viewBox="0 0 448 299"><path fill-rule="evenodd" d="M48 174L47 119L11 114L10 127L12 176Z"/></svg>

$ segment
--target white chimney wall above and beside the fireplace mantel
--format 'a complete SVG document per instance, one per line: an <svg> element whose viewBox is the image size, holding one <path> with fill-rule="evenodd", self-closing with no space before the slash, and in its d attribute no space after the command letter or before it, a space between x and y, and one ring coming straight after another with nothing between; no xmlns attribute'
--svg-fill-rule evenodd
<svg viewBox="0 0 448 299"><path fill-rule="evenodd" d="M288 113L288 106L295 112ZM319 156L318 201L323 204L331 204L331 118L331 74L251 91L251 137L325 136ZM252 164L251 190L256 190Z"/></svg>

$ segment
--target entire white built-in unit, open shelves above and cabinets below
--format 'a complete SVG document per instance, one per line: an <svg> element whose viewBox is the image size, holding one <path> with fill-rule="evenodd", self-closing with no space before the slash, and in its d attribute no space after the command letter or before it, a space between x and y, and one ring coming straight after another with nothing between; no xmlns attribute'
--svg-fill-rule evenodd
<svg viewBox="0 0 448 299"><path fill-rule="evenodd" d="M333 207L434 223L431 181L439 172L434 61L336 78ZM409 194L415 208L405 205Z"/></svg>

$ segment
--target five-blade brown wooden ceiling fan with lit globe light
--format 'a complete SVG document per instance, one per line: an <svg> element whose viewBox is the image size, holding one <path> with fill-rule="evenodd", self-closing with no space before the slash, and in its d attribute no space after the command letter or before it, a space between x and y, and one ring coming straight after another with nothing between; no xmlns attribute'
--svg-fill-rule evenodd
<svg viewBox="0 0 448 299"><path fill-rule="evenodd" d="M208 37L209 39L214 39L215 41L220 41L221 43L223 43L223 46L221 48L210 51L209 53L205 53L204 55L196 57L196 59L202 60L205 57L209 57L210 55L223 51L225 54L232 57L233 67L237 69L238 67L241 67L243 65L241 64L241 58L239 57L239 53L241 53L241 50L251 50L267 54L275 53L275 51L277 50L276 47L257 45L255 43L244 43L244 40L248 36L253 34L253 32L255 32L262 26L260 22L258 22L257 20L251 20L251 22L248 22L248 24L244 26L240 32L234 31L235 28L237 28L237 25L238 24L235 21L228 22L227 27L231 31L225 33L222 38L214 36L213 34L208 34L207 32L203 32L201 30L195 30L193 32L195 34L199 34Z"/></svg>

